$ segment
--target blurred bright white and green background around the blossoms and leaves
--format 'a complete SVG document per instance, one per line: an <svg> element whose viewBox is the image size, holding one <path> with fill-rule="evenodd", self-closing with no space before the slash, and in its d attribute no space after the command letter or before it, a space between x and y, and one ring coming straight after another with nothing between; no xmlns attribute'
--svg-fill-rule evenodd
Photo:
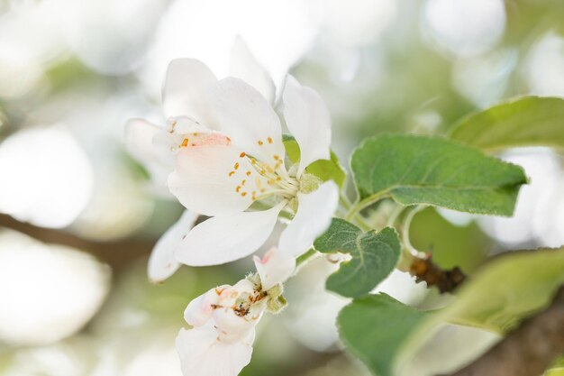
<svg viewBox="0 0 564 376"><path fill-rule="evenodd" d="M237 35L278 84L290 69L320 92L344 161L371 134L443 134L507 97L564 96L559 0L0 0L0 374L180 375L187 302L252 268L183 267L148 283L152 244L182 208L123 150L123 124L163 121L174 58L223 77ZM514 218L416 218L414 244L442 266L564 243L562 156L503 157L532 179ZM315 261L288 284L290 307L261 322L243 375L366 374L336 342L347 301L323 289L333 270ZM441 300L401 273L381 289Z"/></svg>

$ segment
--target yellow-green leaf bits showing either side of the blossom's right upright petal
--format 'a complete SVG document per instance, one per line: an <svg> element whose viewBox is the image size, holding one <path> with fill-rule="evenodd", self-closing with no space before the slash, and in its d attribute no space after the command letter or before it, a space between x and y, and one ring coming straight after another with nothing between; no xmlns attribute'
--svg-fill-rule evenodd
<svg viewBox="0 0 564 376"><path fill-rule="evenodd" d="M283 134L284 146L288 158L292 163L297 163L300 160L300 148L296 139L289 134ZM331 160L315 160L306 169L306 172L315 175L323 181L333 180L339 187L345 182L347 173L343 169L341 162L337 155L331 151Z"/></svg>

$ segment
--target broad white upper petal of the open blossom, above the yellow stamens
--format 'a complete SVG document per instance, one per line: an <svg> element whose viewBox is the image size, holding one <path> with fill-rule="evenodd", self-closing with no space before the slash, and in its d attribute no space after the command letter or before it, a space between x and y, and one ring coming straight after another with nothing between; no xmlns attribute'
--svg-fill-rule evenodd
<svg viewBox="0 0 564 376"><path fill-rule="evenodd" d="M243 151L268 163L284 158L280 119L257 89L239 78L224 78L212 92L219 129Z"/></svg>

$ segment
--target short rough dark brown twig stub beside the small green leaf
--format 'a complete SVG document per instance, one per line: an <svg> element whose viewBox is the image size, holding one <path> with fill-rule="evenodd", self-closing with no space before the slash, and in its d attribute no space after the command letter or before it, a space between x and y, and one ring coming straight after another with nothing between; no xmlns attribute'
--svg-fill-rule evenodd
<svg viewBox="0 0 564 376"><path fill-rule="evenodd" d="M452 292L466 280L466 275L459 267L443 270L432 261L431 253L426 253L424 258L416 258L410 265L409 272L417 282L427 282L427 286L435 286L441 293Z"/></svg>

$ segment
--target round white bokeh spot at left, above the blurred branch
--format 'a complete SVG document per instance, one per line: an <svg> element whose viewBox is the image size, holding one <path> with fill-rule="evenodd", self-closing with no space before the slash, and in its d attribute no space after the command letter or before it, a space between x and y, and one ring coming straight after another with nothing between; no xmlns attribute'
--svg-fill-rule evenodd
<svg viewBox="0 0 564 376"><path fill-rule="evenodd" d="M34 225L70 225L94 183L90 162L62 126L15 133L0 145L0 211Z"/></svg>

